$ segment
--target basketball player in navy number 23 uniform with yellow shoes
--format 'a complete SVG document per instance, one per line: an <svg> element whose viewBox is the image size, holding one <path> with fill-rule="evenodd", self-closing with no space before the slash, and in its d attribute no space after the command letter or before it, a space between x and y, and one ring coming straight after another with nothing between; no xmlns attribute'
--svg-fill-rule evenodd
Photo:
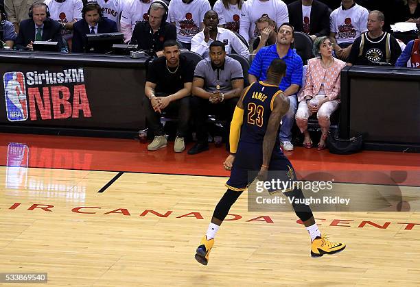
<svg viewBox="0 0 420 287"><path fill-rule="evenodd" d="M257 175L259 180L271 181L268 171L285 171L290 178L294 177L292 164L281 152L278 136L281 118L288 112L290 105L288 97L285 97L278 88L285 70L286 64L283 60L273 60L267 71L267 79L248 86L237 102L231 123L231 155L224 162L224 168L231 169L231 177L226 182L228 190L216 206L207 234L196 250L196 260L203 265L209 262L209 253L214 244L213 238L229 209L246 190L248 184L253 182L253 179L248 181L249 171L259 170ZM284 194L302 201L305 199L302 190L296 187ZM292 203L292 205L294 212L303 221L310 234L312 257L333 254L345 249L344 243L329 242L325 236L321 236L309 205L303 203Z"/></svg>

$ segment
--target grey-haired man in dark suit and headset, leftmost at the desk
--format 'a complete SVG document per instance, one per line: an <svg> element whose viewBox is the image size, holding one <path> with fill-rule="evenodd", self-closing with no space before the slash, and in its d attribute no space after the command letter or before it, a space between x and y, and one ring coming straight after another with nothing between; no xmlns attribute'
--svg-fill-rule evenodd
<svg viewBox="0 0 420 287"><path fill-rule="evenodd" d="M30 8L30 18L21 21L19 34L16 38L18 50L30 50L34 48L34 41L58 42L58 48L63 46L61 38L61 25L49 18L48 6L45 3L34 3Z"/></svg>

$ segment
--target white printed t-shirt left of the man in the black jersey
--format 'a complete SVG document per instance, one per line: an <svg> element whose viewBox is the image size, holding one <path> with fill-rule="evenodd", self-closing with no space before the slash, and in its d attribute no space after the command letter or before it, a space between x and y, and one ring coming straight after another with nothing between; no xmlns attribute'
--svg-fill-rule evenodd
<svg viewBox="0 0 420 287"><path fill-rule="evenodd" d="M366 32L368 17L368 10L358 4L347 10L342 10L340 6L331 12L329 27L331 32L336 33L337 43L352 43L360 34Z"/></svg>

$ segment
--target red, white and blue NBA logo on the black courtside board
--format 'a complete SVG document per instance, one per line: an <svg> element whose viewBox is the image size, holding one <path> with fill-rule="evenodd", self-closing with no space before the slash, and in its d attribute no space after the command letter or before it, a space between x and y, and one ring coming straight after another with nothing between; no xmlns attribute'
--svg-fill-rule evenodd
<svg viewBox="0 0 420 287"><path fill-rule="evenodd" d="M27 120L27 99L25 78L22 72L8 72L3 75L6 112L9 121Z"/></svg>

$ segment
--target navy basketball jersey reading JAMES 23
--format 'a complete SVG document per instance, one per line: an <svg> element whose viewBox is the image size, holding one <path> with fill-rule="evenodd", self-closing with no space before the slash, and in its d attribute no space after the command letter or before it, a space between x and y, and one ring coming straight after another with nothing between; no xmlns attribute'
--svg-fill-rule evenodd
<svg viewBox="0 0 420 287"><path fill-rule="evenodd" d="M275 97L281 90L278 86L253 83L246 91L242 103L244 103L244 121L242 122L240 141L262 145L268 126L268 118L273 109ZM277 133L276 144L279 143ZM277 145L276 145L277 146Z"/></svg>

